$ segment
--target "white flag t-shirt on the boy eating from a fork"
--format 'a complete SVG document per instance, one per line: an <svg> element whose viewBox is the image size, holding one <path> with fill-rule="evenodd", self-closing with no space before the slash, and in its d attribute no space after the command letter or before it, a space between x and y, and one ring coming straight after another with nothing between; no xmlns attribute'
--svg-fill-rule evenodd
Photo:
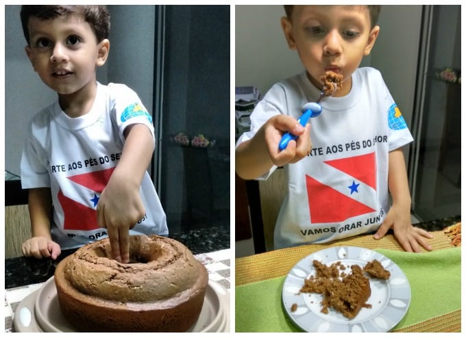
<svg viewBox="0 0 466 338"><path fill-rule="evenodd" d="M276 83L251 115L251 139L272 116L298 118L320 90L306 73ZM309 120L310 156L284 166L286 195L275 226L275 248L376 231L390 207L389 151L413 141L380 72L358 68L352 89L321 101L322 113ZM261 179L267 179L276 167Z"/></svg>

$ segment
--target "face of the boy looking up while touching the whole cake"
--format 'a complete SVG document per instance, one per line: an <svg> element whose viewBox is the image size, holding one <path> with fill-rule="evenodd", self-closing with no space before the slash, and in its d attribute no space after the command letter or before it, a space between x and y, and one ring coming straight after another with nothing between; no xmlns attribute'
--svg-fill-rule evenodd
<svg viewBox="0 0 466 338"><path fill-rule="evenodd" d="M52 20L29 18L30 44L25 48L40 79L58 94L95 86L97 66L106 62L110 44L97 38L77 15Z"/></svg>

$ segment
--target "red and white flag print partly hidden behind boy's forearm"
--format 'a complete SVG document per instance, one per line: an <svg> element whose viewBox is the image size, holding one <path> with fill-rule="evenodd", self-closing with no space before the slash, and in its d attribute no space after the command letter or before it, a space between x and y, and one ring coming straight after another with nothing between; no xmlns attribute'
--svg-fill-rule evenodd
<svg viewBox="0 0 466 338"><path fill-rule="evenodd" d="M88 172L68 177L78 192L75 198L64 196L58 191L58 200L64 214L64 230L95 230L97 225L97 203L99 196L106 187L114 168Z"/></svg>

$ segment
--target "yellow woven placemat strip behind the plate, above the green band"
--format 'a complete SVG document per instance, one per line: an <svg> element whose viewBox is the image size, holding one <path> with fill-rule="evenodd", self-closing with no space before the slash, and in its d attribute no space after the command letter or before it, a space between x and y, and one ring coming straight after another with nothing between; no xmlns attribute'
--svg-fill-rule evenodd
<svg viewBox="0 0 466 338"><path fill-rule="evenodd" d="M443 231L433 231L434 236L428 240L433 250L452 248L451 240ZM360 246L368 249L403 250L393 235L373 239L372 235L356 236L328 244L308 244L264 252L262 254L235 259L235 285L245 285L270 278L286 276L297 261L316 252L333 246ZM424 250L424 248L422 249ZM424 250L425 251L425 250ZM278 264L277 262L280 262Z"/></svg>

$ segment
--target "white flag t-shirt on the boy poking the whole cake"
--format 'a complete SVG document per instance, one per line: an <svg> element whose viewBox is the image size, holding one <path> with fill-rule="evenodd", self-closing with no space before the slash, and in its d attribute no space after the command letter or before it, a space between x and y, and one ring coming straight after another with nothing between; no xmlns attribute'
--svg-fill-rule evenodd
<svg viewBox="0 0 466 338"><path fill-rule="evenodd" d="M51 188L51 233L62 249L106 237L106 229L97 226L97 202L121 157L123 131L135 123L146 125L154 137L152 118L138 95L117 83L97 83L93 107L84 116L69 118L56 101L29 122L21 184L23 189ZM146 214L130 234L168 235L166 216L147 172L140 194Z"/></svg>

